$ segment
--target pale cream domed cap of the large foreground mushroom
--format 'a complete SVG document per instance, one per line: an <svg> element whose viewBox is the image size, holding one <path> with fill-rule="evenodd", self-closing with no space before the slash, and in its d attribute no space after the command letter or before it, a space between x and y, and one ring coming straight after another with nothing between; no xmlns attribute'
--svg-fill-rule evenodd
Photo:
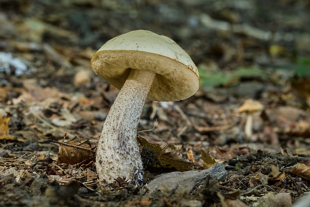
<svg viewBox="0 0 310 207"><path fill-rule="evenodd" d="M147 99L183 100L199 88L199 74L189 55L172 39L147 30L134 30L108 40L92 56L90 67L120 89L131 69L156 73Z"/></svg>

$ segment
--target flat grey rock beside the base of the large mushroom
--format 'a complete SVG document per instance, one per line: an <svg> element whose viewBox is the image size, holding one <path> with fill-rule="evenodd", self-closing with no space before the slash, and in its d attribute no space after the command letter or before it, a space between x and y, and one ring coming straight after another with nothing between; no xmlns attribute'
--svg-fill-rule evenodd
<svg viewBox="0 0 310 207"><path fill-rule="evenodd" d="M204 184L207 180L207 176L217 180L222 179L227 174L223 164L216 164L208 169L201 171L185 171L185 172L169 172L155 176L147 183L147 188L150 191L160 189L162 185L168 189L173 189L178 184L178 187L187 188L192 190L199 184Z"/></svg>

